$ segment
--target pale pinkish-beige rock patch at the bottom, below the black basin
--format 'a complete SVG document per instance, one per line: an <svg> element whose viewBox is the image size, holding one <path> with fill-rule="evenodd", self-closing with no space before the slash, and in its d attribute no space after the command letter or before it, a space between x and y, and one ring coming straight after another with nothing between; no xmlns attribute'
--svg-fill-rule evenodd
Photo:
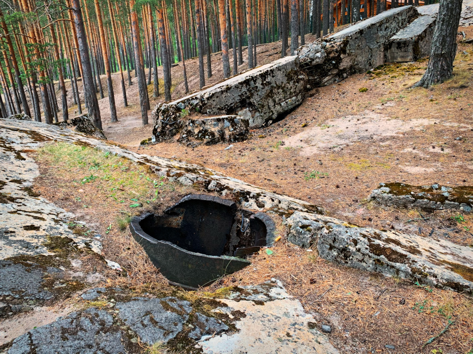
<svg viewBox="0 0 473 354"><path fill-rule="evenodd" d="M238 331L201 339L198 346L203 353L338 353L325 335L314 329L313 317L279 281L273 279L259 288L243 287L244 292L252 293L246 299L232 294L221 300L226 306L214 311L242 314L236 322Z"/></svg>

